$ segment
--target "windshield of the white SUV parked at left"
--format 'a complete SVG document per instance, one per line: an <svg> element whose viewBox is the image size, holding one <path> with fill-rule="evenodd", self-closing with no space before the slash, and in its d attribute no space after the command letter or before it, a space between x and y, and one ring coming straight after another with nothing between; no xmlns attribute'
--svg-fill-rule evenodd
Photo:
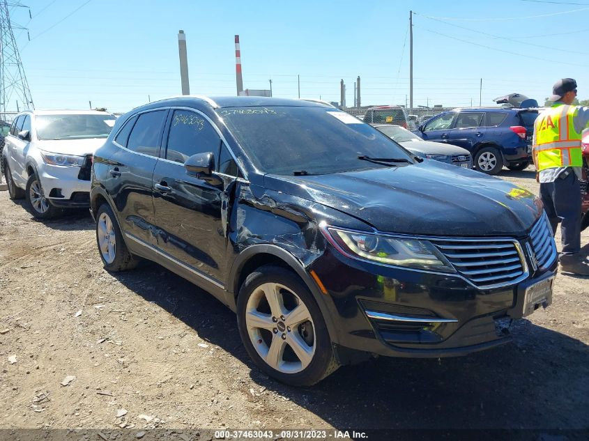
<svg viewBox="0 0 589 441"><path fill-rule="evenodd" d="M107 138L114 125L112 115L37 115L37 139Z"/></svg>

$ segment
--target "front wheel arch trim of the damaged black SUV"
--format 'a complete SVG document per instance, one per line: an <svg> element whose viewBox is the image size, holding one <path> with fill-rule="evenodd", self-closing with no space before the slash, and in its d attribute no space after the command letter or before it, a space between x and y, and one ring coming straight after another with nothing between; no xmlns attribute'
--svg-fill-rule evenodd
<svg viewBox="0 0 589 441"><path fill-rule="evenodd" d="M229 279L227 280L227 291L236 298L247 275L257 268L269 264L287 268L298 275L319 305L332 343L339 343L337 330L331 316L331 311L335 311L332 300L328 295L321 292L316 281L305 270L303 264L295 256L277 245L260 244L247 247L231 266Z"/></svg>

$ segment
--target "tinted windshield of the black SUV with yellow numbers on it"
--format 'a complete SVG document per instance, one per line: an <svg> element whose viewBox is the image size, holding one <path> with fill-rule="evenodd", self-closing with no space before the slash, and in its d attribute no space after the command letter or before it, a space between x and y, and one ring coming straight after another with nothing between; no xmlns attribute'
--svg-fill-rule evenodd
<svg viewBox="0 0 589 441"><path fill-rule="evenodd" d="M380 169L387 164L358 156L413 163L395 141L344 111L326 107L226 107L217 109L254 165L265 173L293 175Z"/></svg>

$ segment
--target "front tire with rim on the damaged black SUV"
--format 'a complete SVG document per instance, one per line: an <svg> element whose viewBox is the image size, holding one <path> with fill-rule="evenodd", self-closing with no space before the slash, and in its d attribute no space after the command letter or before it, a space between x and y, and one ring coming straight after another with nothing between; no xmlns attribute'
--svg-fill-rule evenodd
<svg viewBox="0 0 589 441"><path fill-rule="evenodd" d="M290 270L266 265L248 275L237 323L247 353L281 382L311 386L339 367L319 306Z"/></svg>

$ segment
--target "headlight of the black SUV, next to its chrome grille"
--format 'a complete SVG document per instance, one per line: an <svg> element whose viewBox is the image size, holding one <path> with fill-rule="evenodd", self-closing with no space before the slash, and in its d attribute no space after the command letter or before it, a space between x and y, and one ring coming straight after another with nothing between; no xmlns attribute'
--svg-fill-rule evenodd
<svg viewBox="0 0 589 441"><path fill-rule="evenodd" d="M327 232L340 251L352 258L417 270L456 272L448 259L427 240L392 238L330 227Z"/></svg>

